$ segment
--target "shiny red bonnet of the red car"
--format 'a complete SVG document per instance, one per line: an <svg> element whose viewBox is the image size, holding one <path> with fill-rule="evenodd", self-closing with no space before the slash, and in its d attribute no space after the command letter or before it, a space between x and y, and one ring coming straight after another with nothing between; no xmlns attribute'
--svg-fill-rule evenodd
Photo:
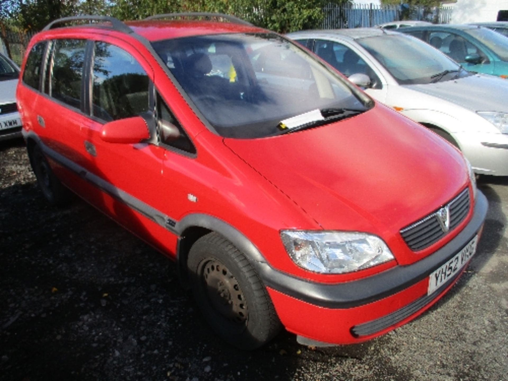
<svg viewBox="0 0 508 381"><path fill-rule="evenodd" d="M458 150L382 105L319 128L224 142L327 230L393 235L468 181Z"/></svg>

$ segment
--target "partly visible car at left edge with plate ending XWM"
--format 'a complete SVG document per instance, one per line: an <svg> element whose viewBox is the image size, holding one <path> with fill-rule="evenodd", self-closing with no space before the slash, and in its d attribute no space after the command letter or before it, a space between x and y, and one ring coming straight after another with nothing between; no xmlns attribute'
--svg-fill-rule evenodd
<svg viewBox="0 0 508 381"><path fill-rule="evenodd" d="M21 136L21 119L16 106L19 68L0 53L0 141Z"/></svg>

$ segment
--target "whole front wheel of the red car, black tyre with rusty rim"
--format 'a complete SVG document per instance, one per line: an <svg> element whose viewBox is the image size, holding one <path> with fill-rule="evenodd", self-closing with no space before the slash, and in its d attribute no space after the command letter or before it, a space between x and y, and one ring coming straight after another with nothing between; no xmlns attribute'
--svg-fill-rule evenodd
<svg viewBox="0 0 508 381"><path fill-rule="evenodd" d="M225 341L252 350L278 333L280 322L259 275L226 238L209 233L198 239L187 266L201 312Z"/></svg>

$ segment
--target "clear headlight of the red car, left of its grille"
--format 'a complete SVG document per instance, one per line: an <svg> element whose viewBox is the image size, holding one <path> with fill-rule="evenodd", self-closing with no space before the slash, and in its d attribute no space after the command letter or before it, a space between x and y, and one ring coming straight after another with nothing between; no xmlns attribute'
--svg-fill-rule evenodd
<svg viewBox="0 0 508 381"><path fill-rule="evenodd" d="M394 259L382 239L366 233L283 230L280 237L298 266L319 273L342 274Z"/></svg>

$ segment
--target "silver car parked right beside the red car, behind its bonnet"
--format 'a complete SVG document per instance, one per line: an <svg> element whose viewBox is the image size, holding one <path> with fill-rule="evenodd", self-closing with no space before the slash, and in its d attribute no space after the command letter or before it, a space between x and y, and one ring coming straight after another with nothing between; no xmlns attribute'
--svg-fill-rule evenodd
<svg viewBox="0 0 508 381"><path fill-rule="evenodd" d="M470 73L414 37L379 28L288 37L457 146L476 173L508 176L508 80Z"/></svg>

